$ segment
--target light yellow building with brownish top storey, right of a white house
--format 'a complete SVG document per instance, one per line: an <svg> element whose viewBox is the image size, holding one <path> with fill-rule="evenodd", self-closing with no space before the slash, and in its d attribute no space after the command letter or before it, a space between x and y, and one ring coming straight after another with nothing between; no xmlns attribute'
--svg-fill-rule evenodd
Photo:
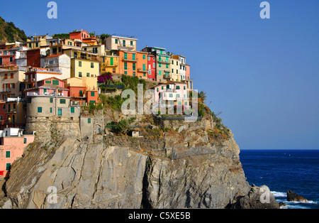
<svg viewBox="0 0 319 223"><path fill-rule="evenodd" d="M99 55L84 50L64 50L71 58L71 77L97 77L99 76Z"/></svg>

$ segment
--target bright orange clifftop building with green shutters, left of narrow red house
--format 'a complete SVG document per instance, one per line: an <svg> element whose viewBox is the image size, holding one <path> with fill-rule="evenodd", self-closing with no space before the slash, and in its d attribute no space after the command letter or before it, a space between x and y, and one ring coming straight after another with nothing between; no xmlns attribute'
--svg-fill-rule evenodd
<svg viewBox="0 0 319 223"><path fill-rule="evenodd" d="M120 74L147 79L147 55L139 51L118 50Z"/></svg>

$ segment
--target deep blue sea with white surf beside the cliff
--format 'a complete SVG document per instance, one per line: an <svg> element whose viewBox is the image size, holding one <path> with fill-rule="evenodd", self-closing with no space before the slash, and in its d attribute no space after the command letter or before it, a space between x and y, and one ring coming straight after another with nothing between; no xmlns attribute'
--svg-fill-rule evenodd
<svg viewBox="0 0 319 223"><path fill-rule="evenodd" d="M319 150L242 150L240 161L250 185L267 185L289 209L319 209ZM287 202L292 190L309 202Z"/></svg>

